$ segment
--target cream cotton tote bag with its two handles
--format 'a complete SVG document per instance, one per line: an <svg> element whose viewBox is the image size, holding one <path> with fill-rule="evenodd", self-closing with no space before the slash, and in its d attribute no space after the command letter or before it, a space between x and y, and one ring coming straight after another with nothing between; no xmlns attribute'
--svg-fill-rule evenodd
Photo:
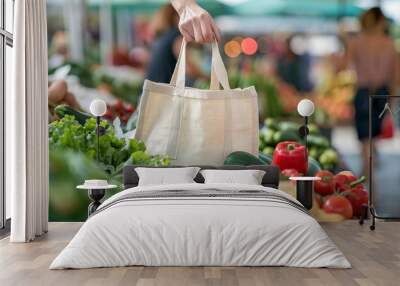
<svg viewBox="0 0 400 286"><path fill-rule="evenodd" d="M144 82L135 138L150 154L168 155L173 165L222 165L233 151L257 155L254 87L230 89L216 42L209 90L185 87L185 62L183 40L170 84Z"/></svg>

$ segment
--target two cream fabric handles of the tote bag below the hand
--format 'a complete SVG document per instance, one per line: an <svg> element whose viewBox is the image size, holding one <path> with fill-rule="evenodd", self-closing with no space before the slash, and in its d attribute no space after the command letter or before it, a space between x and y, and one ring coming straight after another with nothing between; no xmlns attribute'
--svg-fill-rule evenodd
<svg viewBox="0 0 400 286"><path fill-rule="evenodd" d="M174 73L171 78L171 85L178 88L185 88L185 74L186 74L186 40L182 40L181 50L176 62ZM219 53L218 43L212 43L212 57L211 57L211 84L210 89L219 89L219 84L223 89L229 90L228 74L225 69L224 62L222 61L221 54Z"/></svg>

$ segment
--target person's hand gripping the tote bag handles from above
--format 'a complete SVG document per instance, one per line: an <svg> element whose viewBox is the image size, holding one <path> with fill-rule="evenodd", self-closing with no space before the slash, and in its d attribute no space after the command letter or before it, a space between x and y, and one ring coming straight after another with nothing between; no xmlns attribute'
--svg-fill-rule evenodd
<svg viewBox="0 0 400 286"><path fill-rule="evenodd" d="M210 14L195 2L184 2L177 11L180 16L179 30L185 40L197 43L220 41L219 29Z"/></svg>

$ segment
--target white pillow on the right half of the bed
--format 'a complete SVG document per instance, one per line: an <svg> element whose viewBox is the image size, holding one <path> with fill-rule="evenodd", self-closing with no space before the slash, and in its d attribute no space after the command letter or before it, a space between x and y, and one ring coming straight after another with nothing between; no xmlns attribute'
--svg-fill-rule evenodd
<svg viewBox="0 0 400 286"><path fill-rule="evenodd" d="M265 171L261 170L202 170L205 184L226 183L261 185Z"/></svg>

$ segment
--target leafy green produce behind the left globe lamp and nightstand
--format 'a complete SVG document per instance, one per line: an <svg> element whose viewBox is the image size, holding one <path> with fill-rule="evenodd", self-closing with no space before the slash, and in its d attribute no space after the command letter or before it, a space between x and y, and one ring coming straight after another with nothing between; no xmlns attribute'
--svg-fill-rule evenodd
<svg viewBox="0 0 400 286"><path fill-rule="evenodd" d="M143 142L126 138L118 124L113 126L105 120L100 123L105 134L99 139L97 162L96 119L65 106L59 107L58 113L62 118L49 125L50 221L87 218L87 193L75 190L84 180L106 179L121 185L126 164L169 165L168 158L147 153Z"/></svg>

